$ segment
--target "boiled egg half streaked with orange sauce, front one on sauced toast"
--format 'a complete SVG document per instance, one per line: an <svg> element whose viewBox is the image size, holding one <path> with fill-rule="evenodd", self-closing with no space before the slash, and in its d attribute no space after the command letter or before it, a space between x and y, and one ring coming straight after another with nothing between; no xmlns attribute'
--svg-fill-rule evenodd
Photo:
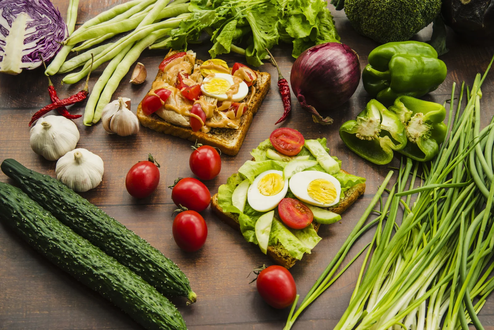
<svg viewBox="0 0 494 330"><path fill-rule="evenodd" d="M226 92L234 84L232 75L226 73L215 73L207 76L203 80L201 90L204 95L217 98L218 101L225 101L228 99ZM247 83L242 81L239 83L239 90L232 95L232 99L230 101L239 102L247 96L247 93Z"/></svg>

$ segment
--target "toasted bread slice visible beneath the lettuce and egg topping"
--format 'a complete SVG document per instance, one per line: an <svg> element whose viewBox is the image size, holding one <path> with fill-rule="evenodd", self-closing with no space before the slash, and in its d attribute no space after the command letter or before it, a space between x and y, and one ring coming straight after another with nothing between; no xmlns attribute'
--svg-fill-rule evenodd
<svg viewBox="0 0 494 330"><path fill-rule="evenodd" d="M343 172L347 173L344 170ZM340 201L338 206L328 207L327 209L334 213L341 214L348 207L350 207L360 196L362 196L365 191L365 183L357 184L345 191L345 198ZM221 221L240 232L239 215L237 213L223 212L223 209L221 209L221 207L218 205L218 194L215 194L211 199L211 209ZM316 231L319 231L320 224L313 221L312 225L314 226L314 229ZM269 246L267 255L269 255L276 264L287 269L292 267L297 261L297 259L295 259L288 253L288 250L280 242L278 242L276 245Z"/></svg>

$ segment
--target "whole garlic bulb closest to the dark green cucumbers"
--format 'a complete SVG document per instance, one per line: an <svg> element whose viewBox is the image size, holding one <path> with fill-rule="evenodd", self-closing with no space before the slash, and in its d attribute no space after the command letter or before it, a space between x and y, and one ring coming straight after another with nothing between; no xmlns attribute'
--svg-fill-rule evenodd
<svg viewBox="0 0 494 330"><path fill-rule="evenodd" d="M103 178L103 172L101 157L82 148L66 153L55 167L57 180L79 192L96 188Z"/></svg>

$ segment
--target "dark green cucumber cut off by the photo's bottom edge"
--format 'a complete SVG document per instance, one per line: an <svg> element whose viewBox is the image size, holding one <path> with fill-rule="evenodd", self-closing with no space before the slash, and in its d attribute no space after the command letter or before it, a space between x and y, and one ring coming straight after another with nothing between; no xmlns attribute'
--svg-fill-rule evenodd
<svg viewBox="0 0 494 330"><path fill-rule="evenodd" d="M115 258L77 235L19 188L0 182L0 219L52 263L149 330L186 330L178 310Z"/></svg>

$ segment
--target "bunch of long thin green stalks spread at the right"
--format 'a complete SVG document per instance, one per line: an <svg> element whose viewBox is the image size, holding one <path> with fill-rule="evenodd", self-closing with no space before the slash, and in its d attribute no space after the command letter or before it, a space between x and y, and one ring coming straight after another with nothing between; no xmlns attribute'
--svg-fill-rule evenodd
<svg viewBox="0 0 494 330"><path fill-rule="evenodd" d="M477 313L494 289L494 118L480 129L480 87L493 60L466 93L462 83L456 107L453 83L449 138L437 157L402 161L389 190L392 172L386 176L328 268L298 309L292 306L285 330L346 270L349 265L336 273L371 226L375 234L335 330L467 330L469 323L484 329ZM377 216L365 225L372 213Z"/></svg>

